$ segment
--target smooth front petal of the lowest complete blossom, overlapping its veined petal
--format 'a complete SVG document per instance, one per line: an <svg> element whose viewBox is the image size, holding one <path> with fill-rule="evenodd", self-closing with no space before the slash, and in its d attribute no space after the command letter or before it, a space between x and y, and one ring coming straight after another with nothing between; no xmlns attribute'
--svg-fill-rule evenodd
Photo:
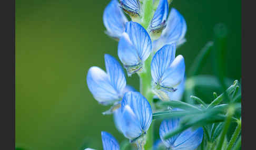
<svg viewBox="0 0 256 150"><path fill-rule="evenodd" d="M129 105L122 106L121 130L125 137L133 140L142 135L142 127Z"/></svg>

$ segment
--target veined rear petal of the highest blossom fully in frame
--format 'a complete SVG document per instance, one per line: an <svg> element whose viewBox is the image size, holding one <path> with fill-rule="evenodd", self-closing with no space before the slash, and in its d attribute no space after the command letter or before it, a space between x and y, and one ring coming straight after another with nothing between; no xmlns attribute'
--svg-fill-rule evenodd
<svg viewBox="0 0 256 150"><path fill-rule="evenodd" d="M135 22L127 22L125 32L128 34L139 58L144 62L152 51L152 42L149 34L140 24Z"/></svg>

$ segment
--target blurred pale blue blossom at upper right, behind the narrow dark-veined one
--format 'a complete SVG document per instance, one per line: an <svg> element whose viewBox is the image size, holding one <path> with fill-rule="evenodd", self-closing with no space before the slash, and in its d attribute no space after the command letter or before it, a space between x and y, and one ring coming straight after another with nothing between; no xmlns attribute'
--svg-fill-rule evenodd
<svg viewBox="0 0 256 150"><path fill-rule="evenodd" d="M186 22L184 17L175 8L171 9L166 27L162 31L161 37L153 42L154 50L157 51L167 44L175 43L180 46L185 42Z"/></svg>

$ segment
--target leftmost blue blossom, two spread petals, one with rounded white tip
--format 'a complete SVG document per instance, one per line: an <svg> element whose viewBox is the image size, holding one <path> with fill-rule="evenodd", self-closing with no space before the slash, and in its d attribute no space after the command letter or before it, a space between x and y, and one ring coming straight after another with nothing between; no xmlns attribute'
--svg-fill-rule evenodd
<svg viewBox="0 0 256 150"><path fill-rule="evenodd" d="M99 67L91 67L87 73L87 85L93 97L101 104L111 104L122 100L126 80L120 63L105 54L106 72Z"/></svg>

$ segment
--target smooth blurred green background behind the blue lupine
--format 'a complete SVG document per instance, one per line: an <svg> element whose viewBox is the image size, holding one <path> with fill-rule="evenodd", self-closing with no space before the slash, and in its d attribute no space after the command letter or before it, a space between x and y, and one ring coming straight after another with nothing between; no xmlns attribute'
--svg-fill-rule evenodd
<svg viewBox="0 0 256 150"><path fill-rule="evenodd" d="M124 137L109 107L86 85L91 66L104 68L104 53L117 57L117 42L104 34L103 10L110 1L16 1L16 146L26 149L102 149L101 131ZM228 27L227 77L241 77L241 1L173 0L188 25L187 42L176 52L186 70L213 39L215 24ZM209 59L202 74L213 74ZM139 89L137 75L127 83ZM200 97L200 95L197 95Z"/></svg>

